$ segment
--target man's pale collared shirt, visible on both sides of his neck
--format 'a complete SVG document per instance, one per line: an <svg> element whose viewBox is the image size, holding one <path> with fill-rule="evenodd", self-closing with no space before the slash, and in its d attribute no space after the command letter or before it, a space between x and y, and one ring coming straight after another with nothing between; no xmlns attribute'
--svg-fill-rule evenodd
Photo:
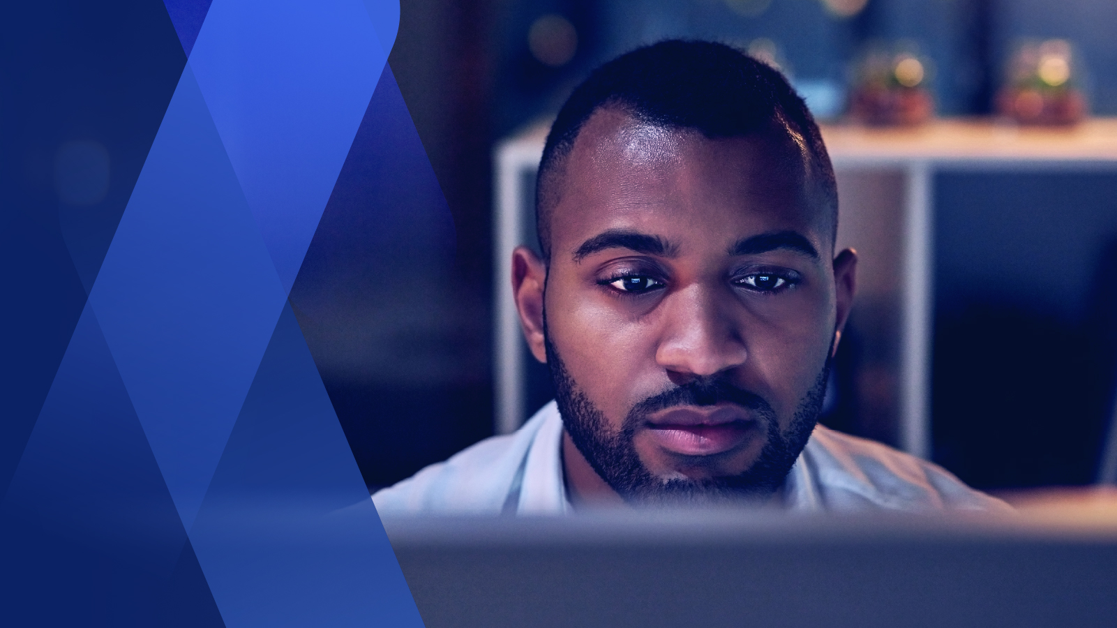
<svg viewBox="0 0 1117 628"><path fill-rule="evenodd" d="M372 496L381 513L561 515L572 511L552 401L516 432L494 436ZM890 447L814 428L780 495L790 511L1009 510L942 467Z"/></svg>

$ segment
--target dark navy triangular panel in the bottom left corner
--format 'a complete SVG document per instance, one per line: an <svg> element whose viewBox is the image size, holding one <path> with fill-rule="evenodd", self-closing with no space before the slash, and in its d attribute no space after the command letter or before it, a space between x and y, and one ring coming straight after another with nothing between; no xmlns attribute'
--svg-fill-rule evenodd
<svg viewBox="0 0 1117 628"><path fill-rule="evenodd" d="M15 541L0 546L9 625L221 625L88 306L0 507L0 532Z"/></svg>

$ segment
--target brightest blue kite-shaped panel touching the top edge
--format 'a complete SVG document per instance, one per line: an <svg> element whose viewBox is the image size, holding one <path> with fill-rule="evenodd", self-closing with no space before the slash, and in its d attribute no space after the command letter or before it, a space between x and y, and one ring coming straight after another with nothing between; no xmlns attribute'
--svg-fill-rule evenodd
<svg viewBox="0 0 1117 628"><path fill-rule="evenodd" d="M359 0L216 0L190 55L287 291L388 51Z"/></svg>

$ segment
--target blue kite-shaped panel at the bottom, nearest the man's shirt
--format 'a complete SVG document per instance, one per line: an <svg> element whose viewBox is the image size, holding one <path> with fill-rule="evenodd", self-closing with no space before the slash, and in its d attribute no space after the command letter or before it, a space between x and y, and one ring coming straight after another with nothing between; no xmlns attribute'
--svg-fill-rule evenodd
<svg viewBox="0 0 1117 628"><path fill-rule="evenodd" d="M230 626L418 621L289 305L190 537Z"/></svg>

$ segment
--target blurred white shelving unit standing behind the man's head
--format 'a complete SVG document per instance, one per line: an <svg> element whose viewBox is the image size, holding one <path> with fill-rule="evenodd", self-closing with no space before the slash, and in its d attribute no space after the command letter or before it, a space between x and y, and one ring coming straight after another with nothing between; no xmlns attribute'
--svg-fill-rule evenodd
<svg viewBox="0 0 1117 628"><path fill-rule="evenodd" d="M512 249L533 242L534 177L548 125L534 125L495 151L494 268L498 434L526 418L524 350L508 282ZM859 298L892 301L899 322L895 383L898 443L930 453L930 334L934 174L939 170L1117 170L1117 118L1071 129L1029 129L943 120L915 129L824 126L838 178L838 246L861 253ZM1114 449L1114 448L1111 448Z"/></svg>

